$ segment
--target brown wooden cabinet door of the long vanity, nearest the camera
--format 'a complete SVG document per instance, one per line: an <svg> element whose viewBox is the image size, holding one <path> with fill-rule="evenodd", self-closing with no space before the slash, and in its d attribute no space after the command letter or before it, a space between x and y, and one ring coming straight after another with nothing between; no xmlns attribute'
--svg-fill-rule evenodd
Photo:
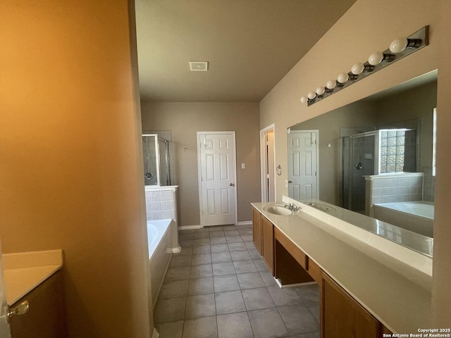
<svg viewBox="0 0 451 338"><path fill-rule="evenodd" d="M340 285L323 275L324 338L376 338L381 335L378 320Z"/></svg>

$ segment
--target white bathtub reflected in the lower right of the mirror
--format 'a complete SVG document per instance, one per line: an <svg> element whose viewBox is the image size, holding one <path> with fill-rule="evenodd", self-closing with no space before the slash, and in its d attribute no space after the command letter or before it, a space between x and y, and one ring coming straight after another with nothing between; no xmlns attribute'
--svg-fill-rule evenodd
<svg viewBox="0 0 451 338"><path fill-rule="evenodd" d="M414 201L374 204L374 218L433 237L433 203Z"/></svg>

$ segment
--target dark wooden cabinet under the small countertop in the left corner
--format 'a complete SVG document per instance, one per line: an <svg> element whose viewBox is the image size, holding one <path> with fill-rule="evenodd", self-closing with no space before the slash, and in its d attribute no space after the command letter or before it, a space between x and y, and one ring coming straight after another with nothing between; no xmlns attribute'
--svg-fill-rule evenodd
<svg viewBox="0 0 451 338"><path fill-rule="evenodd" d="M11 338L66 337L61 271L51 275L11 308L25 300L30 303L30 308L24 315L11 317Z"/></svg>

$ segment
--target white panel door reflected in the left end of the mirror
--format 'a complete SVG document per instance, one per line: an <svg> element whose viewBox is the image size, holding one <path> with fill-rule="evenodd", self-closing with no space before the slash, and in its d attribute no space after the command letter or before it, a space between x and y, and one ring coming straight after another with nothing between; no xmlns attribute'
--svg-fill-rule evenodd
<svg viewBox="0 0 451 338"><path fill-rule="evenodd" d="M288 195L298 201L318 199L317 130L288 134Z"/></svg>

